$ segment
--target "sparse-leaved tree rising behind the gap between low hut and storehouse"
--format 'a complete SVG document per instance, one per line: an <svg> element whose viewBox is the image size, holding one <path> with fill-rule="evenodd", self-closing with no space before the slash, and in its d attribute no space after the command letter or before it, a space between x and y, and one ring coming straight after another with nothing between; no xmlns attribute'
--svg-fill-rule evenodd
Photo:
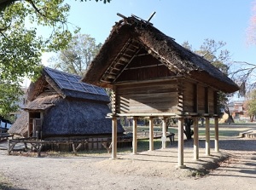
<svg viewBox="0 0 256 190"><path fill-rule="evenodd" d="M62 49L51 58L51 67L82 76L101 47L102 43L96 44L96 39L90 35L77 34L68 43L67 49Z"/></svg>

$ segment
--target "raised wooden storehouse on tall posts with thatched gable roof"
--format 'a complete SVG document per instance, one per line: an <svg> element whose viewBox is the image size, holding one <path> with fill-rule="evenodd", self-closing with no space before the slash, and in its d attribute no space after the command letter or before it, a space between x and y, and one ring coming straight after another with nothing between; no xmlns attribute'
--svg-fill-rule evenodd
<svg viewBox="0 0 256 190"><path fill-rule="evenodd" d="M206 153L210 155L209 118L215 118L218 151L218 92L232 93L238 86L200 55L183 48L151 23L123 17L82 79L113 89L113 152L116 158L116 119L133 118L133 153L137 153L137 118L149 118L149 149L154 150L153 118L178 118L178 165L183 167L183 119L195 119L195 159L198 159L199 117L206 118Z"/></svg>

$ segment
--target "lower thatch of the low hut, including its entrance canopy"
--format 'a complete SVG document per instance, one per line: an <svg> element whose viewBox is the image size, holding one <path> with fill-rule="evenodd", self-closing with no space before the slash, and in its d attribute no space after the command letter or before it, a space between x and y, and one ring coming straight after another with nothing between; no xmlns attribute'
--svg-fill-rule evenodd
<svg viewBox="0 0 256 190"><path fill-rule="evenodd" d="M51 106L47 107L47 105ZM43 138L111 135L111 119L106 118L107 113L110 112L107 104L95 101L67 100L60 95L44 94L30 102L25 110L31 112L44 108ZM9 133L26 136L28 114L29 112L22 111L20 118L17 118ZM118 124L118 133L123 132L122 126Z"/></svg>

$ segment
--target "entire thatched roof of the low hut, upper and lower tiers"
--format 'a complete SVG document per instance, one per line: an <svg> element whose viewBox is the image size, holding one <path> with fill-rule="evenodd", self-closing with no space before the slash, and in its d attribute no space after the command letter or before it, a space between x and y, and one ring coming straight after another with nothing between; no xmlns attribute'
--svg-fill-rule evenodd
<svg viewBox="0 0 256 190"><path fill-rule="evenodd" d="M44 115L42 135L71 137L110 135L109 98L105 90L80 81L80 77L44 67L43 74L28 89L28 102L9 130L27 136L28 119ZM124 129L118 124L118 133Z"/></svg>

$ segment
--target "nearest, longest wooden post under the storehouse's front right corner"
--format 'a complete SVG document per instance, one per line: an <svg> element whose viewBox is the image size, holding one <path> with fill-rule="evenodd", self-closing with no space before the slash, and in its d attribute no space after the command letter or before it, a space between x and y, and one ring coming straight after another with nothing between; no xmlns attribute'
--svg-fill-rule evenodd
<svg viewBox="0 0 256 190"><path fill-rule="evenodd" d="M183 118L178 118L177 122L178 127L178 153L177 153L177 166L179 168L185 168L186 166L183 164L183 148L184 148L184 141L183 141Z"/></svg>

